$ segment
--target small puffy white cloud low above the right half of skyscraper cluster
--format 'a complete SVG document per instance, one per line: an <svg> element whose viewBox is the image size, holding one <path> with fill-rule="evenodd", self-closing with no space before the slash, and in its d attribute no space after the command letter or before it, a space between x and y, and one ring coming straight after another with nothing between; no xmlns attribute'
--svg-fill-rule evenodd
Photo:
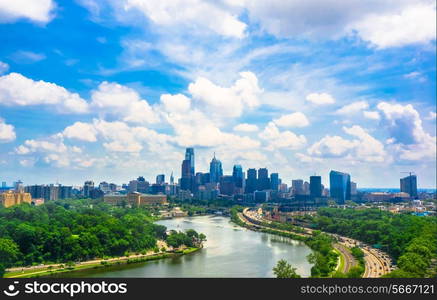
<svg viewBox="0 0 437 300"><path fill-rule="evenodd" d="M290 150L296 150L302 148L307 140L304 135L296 135L291 131L279 131L275 123L269 122L259 137L265 140L268 145L267 150L273 151L278 148L287 148Z"/></svg>

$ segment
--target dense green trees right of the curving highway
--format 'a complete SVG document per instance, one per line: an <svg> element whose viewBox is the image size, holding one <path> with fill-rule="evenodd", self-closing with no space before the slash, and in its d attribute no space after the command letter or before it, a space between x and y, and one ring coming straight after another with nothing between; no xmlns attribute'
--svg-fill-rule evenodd
<svg viewBox="0 0 437 300"><path fill-rule="evenodd" d="M390 273L393 277L426 277L435 273L430 267L432 259L437 258L435 217L392 214L378 209L321 208L317 216L307 221L323 231L381 245L381 250L389 253L401 269Z"/></svg>

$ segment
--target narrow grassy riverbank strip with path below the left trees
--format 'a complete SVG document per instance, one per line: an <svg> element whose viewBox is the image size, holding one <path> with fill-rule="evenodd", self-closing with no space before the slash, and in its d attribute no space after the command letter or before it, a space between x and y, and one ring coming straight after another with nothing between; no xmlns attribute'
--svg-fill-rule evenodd
<svg viewBox="0 0 437 300"><path fill-rule="evenodd" d="M138 254L130 256L114 257L109 259L94 259L89 261L84 261L75 265L65 264L51 264L45 266L36 267L23 267L23 268L12 268L12 271L7 271L4 278L35 278L35 277L45 277L53 276L60 273L74 273L90 269L101 269L107 268L114 265L141 263L152 260L159 260L165 258L171 258L181 255L186 255L199 251L203 247L191 247L182 250L177 250L174 252L158 252L158 253L148 253L148 254Z"/></svg>

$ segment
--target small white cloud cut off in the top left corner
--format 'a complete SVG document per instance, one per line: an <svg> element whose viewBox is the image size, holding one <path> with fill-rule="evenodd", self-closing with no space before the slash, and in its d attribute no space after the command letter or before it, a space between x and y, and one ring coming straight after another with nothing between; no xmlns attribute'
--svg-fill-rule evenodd
<svg viewBox="0 0 437 300"><path fill-rule="evenodd" d="M53 18L55 7L52 0L0 0L0 23L11 23L22 18L47 23Z"/></svg>

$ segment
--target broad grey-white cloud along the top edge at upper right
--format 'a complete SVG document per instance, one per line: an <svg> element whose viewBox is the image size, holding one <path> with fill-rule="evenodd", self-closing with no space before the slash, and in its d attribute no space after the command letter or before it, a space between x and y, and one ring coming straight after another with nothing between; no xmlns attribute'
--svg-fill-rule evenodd
<svg viewBox="0 0 437 300"><path fill-rule="evenodd" d="M435 40L432 0L247 1L250 19L277 37L339 38L357 33L379 48Z"/></svg>

